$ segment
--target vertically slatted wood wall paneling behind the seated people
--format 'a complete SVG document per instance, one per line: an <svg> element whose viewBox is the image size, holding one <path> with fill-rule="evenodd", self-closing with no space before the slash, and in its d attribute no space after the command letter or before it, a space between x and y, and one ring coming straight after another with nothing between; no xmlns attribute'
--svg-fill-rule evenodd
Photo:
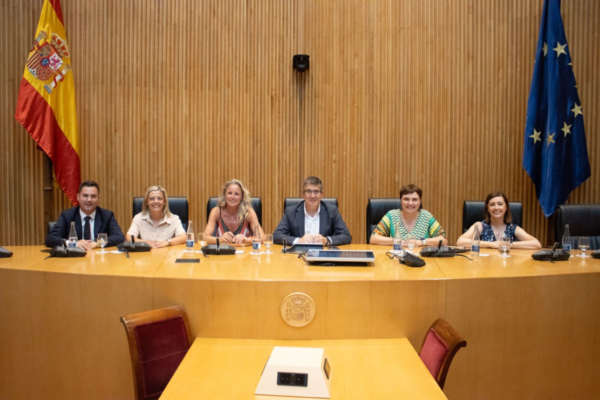
<svg viewBox="0 0 600 400"><path fill-rule="evenodd" d="M41 244L42 156L14 120L41 0L0 5L0 244ZM196 228L236 177L274 230L308 175L336 196L355 243L370 197L406 183L454 242L464 199L500 189L547 219L521 166L541 0L63 0L82 177L124 231L151 184L187 196ZM570 202L600 202L600 3L563 0L592 177ZM292 70L292 55L310 69ZM70 206L55 189L55 217Z"/></svg>

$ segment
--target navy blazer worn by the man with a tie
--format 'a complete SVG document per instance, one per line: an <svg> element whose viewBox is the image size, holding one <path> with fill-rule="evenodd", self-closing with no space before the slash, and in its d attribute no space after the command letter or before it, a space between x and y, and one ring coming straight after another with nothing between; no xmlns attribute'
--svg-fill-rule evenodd
<svg viewBox="0 0 600 400"><path fill-rule="evenodd" d="M79 206L69 208L61 213L54 228L48 232L46 237L46 246L54 247L61 246L62 239L68 239L69 231L71 230L71 222L75 223L77 231L77 240L83 238L81 216L79 214ZM104 210L104 208L96 207L96 218L94 220L94 238L98 237L98 233L106 233L108 236L107 247L116 246L125 240L123 232L119 224L116 222L115 214L112 211Z"/></svg>

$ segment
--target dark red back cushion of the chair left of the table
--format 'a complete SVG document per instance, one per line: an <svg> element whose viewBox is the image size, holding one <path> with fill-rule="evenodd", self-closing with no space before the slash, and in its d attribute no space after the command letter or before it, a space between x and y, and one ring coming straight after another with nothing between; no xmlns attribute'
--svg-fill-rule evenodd
<svg viewBox="0 0 600 400"><path fill-rule="evenodd" d="M134 328L142 368L144 397L163 392L188 351L184 319L180 316Z"/></svg>

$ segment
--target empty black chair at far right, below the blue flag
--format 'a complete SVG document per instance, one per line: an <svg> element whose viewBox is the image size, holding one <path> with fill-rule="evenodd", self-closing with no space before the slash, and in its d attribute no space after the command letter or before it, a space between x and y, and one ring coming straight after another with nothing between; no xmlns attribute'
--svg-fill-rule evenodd
<svg viewBox="0 0 600 400"><path fill-rule="evenodd" d="M571 248L578 249L580 236L590 237L590 250L600 249L600 204L562 204L554 210L554 241L561 243L569 224Z"/></svg>

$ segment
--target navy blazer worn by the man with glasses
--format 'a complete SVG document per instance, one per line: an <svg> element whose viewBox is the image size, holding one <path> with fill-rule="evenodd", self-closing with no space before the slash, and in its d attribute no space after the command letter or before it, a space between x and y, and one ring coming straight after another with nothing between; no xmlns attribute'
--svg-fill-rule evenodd
<svg viewBox="0 0 600 400"><path fill-rule="evenodd" d="M321 202L319 213L319 234L331 238L332 246L350 244L352 241L350 231L348 231L338 208L324 202ZM273 242L282 244L283 238L286 238L287 244L290 245L295 238L302 236L304 236L304 201L284 210L283 217L273 232Z"/></svg>

